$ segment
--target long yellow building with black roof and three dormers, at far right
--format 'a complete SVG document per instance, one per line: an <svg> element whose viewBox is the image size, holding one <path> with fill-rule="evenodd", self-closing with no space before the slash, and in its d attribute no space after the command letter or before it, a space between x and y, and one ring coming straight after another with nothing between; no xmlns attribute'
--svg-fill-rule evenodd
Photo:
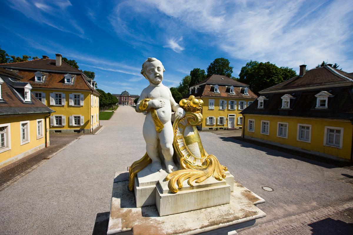
<svg viewBox="0 0 353 235"><path fill-rule="evenodd" d="M328 64L260 91L243 137L352 162L353 74Z"/></svg>

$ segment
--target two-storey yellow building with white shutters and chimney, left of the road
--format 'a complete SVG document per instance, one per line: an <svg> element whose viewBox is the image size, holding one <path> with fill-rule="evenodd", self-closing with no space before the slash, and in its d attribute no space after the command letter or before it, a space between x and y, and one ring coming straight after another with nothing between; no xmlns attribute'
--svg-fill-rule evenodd
<svg viewBox="0 0 353 235"><path fill-rule="evenodd" d="M99 96L94 81L71 67L60 54L55 60L42 59L0 64L23 77L32 93L55 111L50 117L50 132L90 133L99 125Z"/></svg>

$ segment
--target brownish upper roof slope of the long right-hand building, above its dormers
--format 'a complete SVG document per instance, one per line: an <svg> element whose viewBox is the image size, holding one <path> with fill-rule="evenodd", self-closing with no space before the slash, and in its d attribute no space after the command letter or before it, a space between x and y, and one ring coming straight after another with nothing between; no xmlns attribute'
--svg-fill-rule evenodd
<svg viewBox="0 0 353 235"><path fill-rule="evenodd" d="M344 85L349 82L353 82L352 73L346 73L330 66L324 66L311 69L307 71L304 76L295 76L285 82L264 89L259 93L266 94L268 92L280 92L281 90L286 89L300 89L307 87L312 87L315 89L316 86Z"/></svg>

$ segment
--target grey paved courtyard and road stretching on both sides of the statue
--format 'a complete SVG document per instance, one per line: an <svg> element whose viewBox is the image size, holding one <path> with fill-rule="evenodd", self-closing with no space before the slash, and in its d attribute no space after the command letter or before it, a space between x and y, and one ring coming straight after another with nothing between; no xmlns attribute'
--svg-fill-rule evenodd
<svg viewBox="0 0 353 235"><path fill-rule="evenodd" d="M145 153L143 113L120 106L85 135L11 186L0 191L0 234L99 234L108 215L115 171ZM352 171L289 153L201 132L203 145L245 187L266 200L266 223L353 198L342 181ZM262 186L274 188L267 192ZM96 223L95 223L96 222ZM96 224L96 227L95 227ZM245 230L246 231L246 230Z"/></svg>

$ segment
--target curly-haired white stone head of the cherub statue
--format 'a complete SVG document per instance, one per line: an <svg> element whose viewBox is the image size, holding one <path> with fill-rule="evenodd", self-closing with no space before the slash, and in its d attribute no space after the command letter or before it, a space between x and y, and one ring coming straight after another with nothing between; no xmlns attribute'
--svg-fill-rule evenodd
<svg viewBox="0 0 353 235"><path fill-rule="evenodd" d="M166 71L161 61L149 57L143 64L141 74L153 84L160 84Z"/></svg>

